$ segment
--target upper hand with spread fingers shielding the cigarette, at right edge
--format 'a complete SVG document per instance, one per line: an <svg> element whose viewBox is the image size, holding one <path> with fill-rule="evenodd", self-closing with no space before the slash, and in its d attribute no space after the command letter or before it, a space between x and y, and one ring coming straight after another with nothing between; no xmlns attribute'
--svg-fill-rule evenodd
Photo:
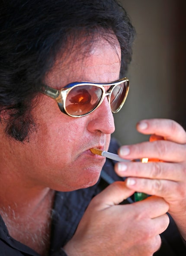
<svg viewBox="0 0 186 256"><path fill-rule="evenodd" d="M143 120L137 124L143 134L152 134L150 142L122 146L122 158L155 158L161 161L125 162L115 171L127 179L127 187L158 197L169 203L169 213L186 238L186 132L168 119Z"/></svg>

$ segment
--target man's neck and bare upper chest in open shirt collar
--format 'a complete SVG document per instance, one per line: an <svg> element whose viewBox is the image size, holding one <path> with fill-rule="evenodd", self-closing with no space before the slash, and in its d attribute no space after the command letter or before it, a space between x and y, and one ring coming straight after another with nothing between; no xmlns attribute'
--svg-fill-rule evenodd
<svg viewBox="0 0 186 256"><path fill-rule="evenodd" d="M16 141L9 141L1 127L0 214L10 236L40 255L47 255L54 191L46 184L38 184L33 158L25 154L30 144L23 147Z"/></svg>

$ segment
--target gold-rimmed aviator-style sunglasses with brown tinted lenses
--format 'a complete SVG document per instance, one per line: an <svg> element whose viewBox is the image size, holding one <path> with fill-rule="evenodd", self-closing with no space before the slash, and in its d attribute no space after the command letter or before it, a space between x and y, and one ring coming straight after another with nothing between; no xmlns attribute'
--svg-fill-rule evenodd
<svg viewBox="0 0 186 256"><path fill-rule="evenodd" d="M109 86L106 91L104 86ZM42 93L55 99L66 115L82 117L98 108L107 96L112 113L117 113L128 95L129 80L125 77L115 82L72 82L57 90L47 85L42 86Z"/></svg>

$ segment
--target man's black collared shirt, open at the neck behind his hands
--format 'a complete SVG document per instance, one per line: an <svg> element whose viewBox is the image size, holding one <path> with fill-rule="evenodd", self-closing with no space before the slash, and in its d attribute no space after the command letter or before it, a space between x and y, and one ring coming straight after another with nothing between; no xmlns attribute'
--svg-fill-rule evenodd
<svg viewBox="0 0 186 256"><path fill-rule="evenodd" d="M112 140L109 151L116 153L117 148L118 144ZM101 178L93 187L72 192L56 191L55 204L52 210L49 256L66 256L62 248L74 235L90 200L112 181L121 180L113 171L114 164L114 161L106 160ZM124 203L128 202L125 201ZM161 235L161 238L162 246L154 256L186 256L186 246L171 217L170 225ZM6 225L0 217L0 256L39 256L39 254L10 237Z"/></svg>

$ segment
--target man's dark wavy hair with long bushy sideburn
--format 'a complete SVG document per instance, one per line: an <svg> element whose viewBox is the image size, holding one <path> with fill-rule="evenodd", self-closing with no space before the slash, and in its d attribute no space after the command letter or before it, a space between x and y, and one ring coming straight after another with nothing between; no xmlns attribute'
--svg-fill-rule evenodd
<svg viewBox="0 0 186 256"><path fill-rule="evenodd" d="M31 110L46 73L59 52L86 35L122 50L121 76L131 61L135 29L116 0L5 0L0 3L0 121L10 138L25 141L35 129ZM88 50L86 48L86 50Z"/></svg>

